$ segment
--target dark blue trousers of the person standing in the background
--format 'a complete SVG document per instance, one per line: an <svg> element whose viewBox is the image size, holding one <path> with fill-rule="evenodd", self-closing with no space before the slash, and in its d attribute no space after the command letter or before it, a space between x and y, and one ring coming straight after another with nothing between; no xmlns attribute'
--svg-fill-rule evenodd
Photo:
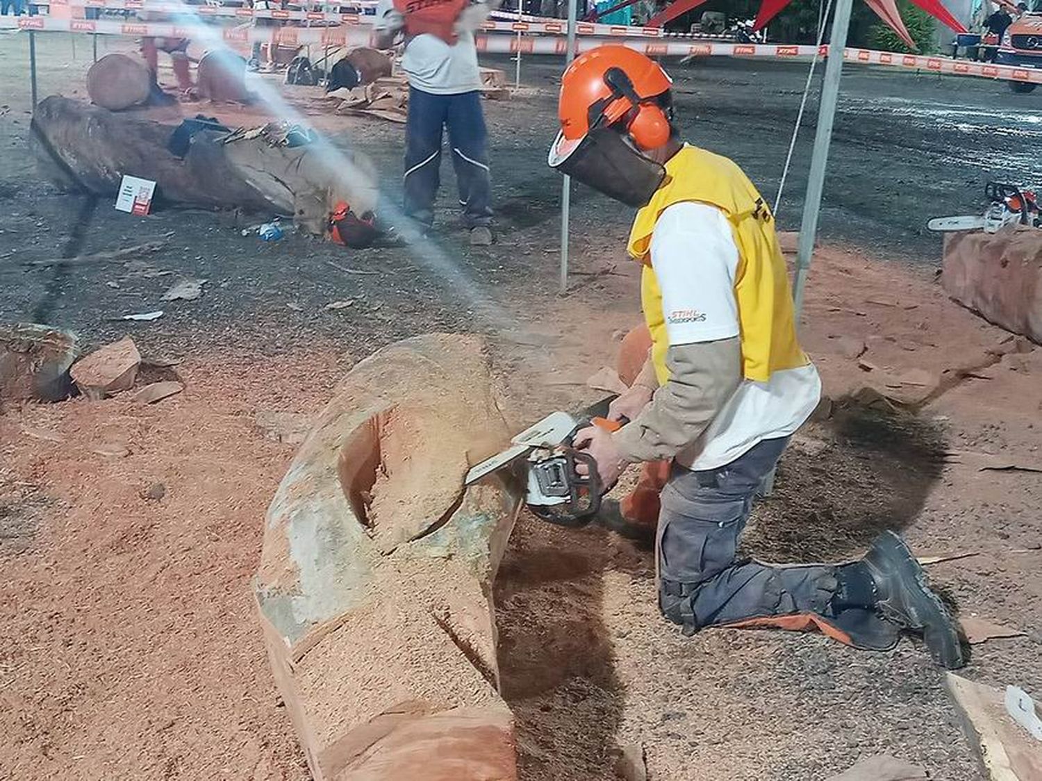
<svg viewBox="0 0 1042 781"><path fill-rule="evenodd" d="M481 113L481 94L431 95L408 91L405 123L405 214L430 225L435 197L441 184L442 128L449 131L452 167L460 187L460 205L468 227L488 225L490 206L488 131Z"/></svg>

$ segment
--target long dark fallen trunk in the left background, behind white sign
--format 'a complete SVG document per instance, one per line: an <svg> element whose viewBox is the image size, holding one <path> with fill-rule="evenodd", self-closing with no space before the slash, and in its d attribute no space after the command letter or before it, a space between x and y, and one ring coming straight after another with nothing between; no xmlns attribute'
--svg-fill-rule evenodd
<svg viewBox="0 0 1042 781"><path fill-rule="evenodd" d="M202 129L183 158L167 148L174 129L51 96L33 114L32 146L61 187L115 198L124 174L140 176L156 182L158 200L292 216L315 236L340 202L357 215L376 208L376 170L366 157L321 143L291 146L286 125Z"/></svg>

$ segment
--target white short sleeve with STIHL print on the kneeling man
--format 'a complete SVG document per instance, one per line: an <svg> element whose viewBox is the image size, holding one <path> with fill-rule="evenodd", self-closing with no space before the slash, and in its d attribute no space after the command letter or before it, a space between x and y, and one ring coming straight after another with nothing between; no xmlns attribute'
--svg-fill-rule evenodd
<svg viewBox="0 0 1042 781"><path fill-rule="evenodd" d="M651 268L671 345L739 335L738 247L723 212L694 201L666 209L651 235Z"/></svg>

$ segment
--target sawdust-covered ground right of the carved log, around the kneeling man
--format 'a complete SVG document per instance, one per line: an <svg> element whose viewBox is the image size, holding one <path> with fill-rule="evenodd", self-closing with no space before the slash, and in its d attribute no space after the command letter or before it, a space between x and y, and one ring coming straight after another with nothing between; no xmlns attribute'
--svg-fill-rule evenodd
<svg viewBox="0 0 1042 781"><path fill-rule="evenodd" d="M534 364L565 409L597 395L585 377L611 365L605 345L639 321L636 269L598 274L605 257L584 255L591 283L552 315L581 331L566 331ZM616 302L610 314L605 300ZM1042 563L1042 487L1037 474L978 471L952 454L1038 460L1042 349L959 308L932 277L842 249L815 261L804 323L826 393L870 406L838 402L800 432L773 496L753 514L747 552L843 560L887 528L924 555L971 552L933 565L935 586L962 614L1028 636L974 646L965 675L1042 691L1042 583L1032 576ZM911 369L922 373L902 383ZM497 609L524 779L614 779L617 751L630 745L645 750L650 777L668 781L822 779L878 752L946 781L979 777L918 642L870 654L816 634L683 637L658 614L651 553L597 529L565 532L523 516Z"/></svg>

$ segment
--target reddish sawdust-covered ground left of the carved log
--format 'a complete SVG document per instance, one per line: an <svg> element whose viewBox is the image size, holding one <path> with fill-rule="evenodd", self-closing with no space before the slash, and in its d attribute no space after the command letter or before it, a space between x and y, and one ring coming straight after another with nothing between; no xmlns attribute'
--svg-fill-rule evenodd
<svg viewBox="0 0 1042 781"><path fill-rule="evenodd" d="M307 777L249 591L294 448L253 415L317 412L344 369L207 357L155 406L0 417L0 504L31 512L0 535L0 775ZM94 451L111 441L127 455Z"/></svg>

